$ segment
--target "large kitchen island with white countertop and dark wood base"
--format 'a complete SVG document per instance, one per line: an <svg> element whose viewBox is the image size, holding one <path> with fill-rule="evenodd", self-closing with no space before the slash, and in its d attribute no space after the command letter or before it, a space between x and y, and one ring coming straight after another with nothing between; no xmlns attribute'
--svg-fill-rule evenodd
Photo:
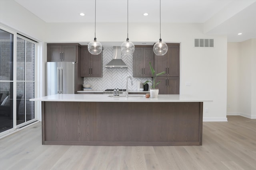
<svg viewBox="0 0 256 170"><path fill-rule="evenodd" d="M192 96L56 94L42 102L43 145L202 145L203 102Z"/></svg>

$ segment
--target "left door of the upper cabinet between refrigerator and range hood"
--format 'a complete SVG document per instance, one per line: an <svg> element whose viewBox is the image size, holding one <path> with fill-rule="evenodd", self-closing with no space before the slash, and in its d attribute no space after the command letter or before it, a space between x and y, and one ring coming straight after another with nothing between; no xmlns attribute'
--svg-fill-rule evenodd
<svg viewBox="0 0 256 170"><path fill-rule="evenodd" d="M82 77L90 77L91 55L86 47L81 48L80 72Z"/></svg>

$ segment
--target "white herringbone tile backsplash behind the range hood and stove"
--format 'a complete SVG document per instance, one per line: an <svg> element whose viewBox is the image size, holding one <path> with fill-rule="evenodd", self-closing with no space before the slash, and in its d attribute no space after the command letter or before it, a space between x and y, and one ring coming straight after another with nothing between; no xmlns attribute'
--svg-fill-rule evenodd
<svg viewBox="0 0 256 170"><path fill-rule="evenodd" d="M128 68L105 68L104 66L108 64L113 59L113 48L104 48L103 50L103 76L102 77L92 77L84 78L84 84L91 84L92 90L106 90L106 89L126 89L126 78L127 76L132 77L132 55L122 56L124 63L128 65ZM128 80L128 89L137 90L137 82L146 82L151 80L151 78L137 78L132 77L133 86Z"/></svg>

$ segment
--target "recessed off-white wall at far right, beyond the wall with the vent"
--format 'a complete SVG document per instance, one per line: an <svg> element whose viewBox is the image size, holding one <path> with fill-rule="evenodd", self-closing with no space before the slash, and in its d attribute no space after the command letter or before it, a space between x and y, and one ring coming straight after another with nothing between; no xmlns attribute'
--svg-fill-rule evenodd
<svg viewBox="0 0 256 170"><path fill-rule="evenodd" d="M256 119L256 39L228 43L227 114Z"/></svg>

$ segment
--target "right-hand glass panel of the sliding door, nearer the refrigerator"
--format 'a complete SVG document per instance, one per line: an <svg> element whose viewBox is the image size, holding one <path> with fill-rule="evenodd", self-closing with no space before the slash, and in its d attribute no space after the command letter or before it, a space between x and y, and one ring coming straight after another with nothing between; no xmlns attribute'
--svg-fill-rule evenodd
<svg viewBox="0 0 256 170"><path fill-rule="evenodd" d="M17 37L17 98L16 119L17 125L35 118L34 81L35 81L35 44L22 37Z"/></svg>

